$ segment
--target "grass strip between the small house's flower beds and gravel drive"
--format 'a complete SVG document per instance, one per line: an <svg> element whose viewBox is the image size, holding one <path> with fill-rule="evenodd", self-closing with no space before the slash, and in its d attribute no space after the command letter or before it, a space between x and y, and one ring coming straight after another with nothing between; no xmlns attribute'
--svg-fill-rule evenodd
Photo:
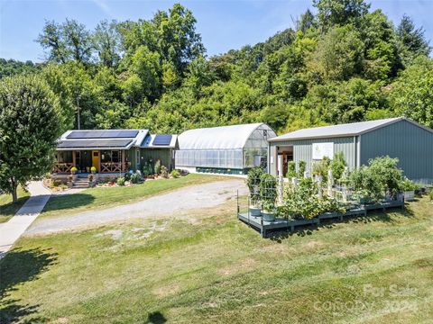
<svg viewBox="0 0 433 324"><path fill-rule="evenodd" d="M170 180L152 180L132 186L96 187L80 193L51 197L41 213L41 217L58 217L79 211L109 208L115 205L136 202L158 193L190 184L206 184L227 177L217 175L189 174Z"/></svg>

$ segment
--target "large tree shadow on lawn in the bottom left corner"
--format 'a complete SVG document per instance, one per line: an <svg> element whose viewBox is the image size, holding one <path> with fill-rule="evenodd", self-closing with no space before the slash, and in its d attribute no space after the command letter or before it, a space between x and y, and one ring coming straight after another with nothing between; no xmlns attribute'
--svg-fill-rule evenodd
<svg viewBox="0 0 433 324"><path fill-rule="evenodd" d="M1 257L1 256L0 256ZM37 314L39 305L22 304L20 300L7 299L11 292L17 290L18 284L37 280L39 275L55 264L56 253L41 248L12 250L0 260L0 323L41 322L39 316L23 321L24 316Z"/></svg>

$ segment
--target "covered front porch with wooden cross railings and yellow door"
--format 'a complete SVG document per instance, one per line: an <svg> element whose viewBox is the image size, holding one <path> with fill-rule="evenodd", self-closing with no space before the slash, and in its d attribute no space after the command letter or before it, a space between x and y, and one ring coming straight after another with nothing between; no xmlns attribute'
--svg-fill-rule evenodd
<svg viewBox="0 0 433 324"><path fill-rule="evenodd" d="M92 166L97 173L119 174L127 172L131 162L126 149L58 149L52 173L70 174L73 166L77 167L78 174L90 173Z"/></svg>

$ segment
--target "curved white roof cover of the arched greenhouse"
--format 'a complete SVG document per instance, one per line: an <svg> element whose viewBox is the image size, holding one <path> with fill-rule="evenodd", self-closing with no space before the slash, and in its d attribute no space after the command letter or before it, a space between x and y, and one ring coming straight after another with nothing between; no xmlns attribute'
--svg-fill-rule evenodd
<svg viewBox="0 0 433 324"><path fill-rule="evenodd" d="M180 149L233 149L244 148L254 130L268 131L268 138L275 136L274 131L264 123L220 126L186 130L179 135Z"/></svg>

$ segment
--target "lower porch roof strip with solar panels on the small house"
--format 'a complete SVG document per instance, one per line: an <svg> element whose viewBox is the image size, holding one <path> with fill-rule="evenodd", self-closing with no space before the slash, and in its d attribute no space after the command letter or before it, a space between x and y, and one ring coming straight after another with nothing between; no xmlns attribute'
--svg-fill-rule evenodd
<svg viewBox="0 0 433 324"><path fill-rule="evenodd" d="M57 145L58 149L127 149L131 148L133 139L68 139Z"/></svg>

